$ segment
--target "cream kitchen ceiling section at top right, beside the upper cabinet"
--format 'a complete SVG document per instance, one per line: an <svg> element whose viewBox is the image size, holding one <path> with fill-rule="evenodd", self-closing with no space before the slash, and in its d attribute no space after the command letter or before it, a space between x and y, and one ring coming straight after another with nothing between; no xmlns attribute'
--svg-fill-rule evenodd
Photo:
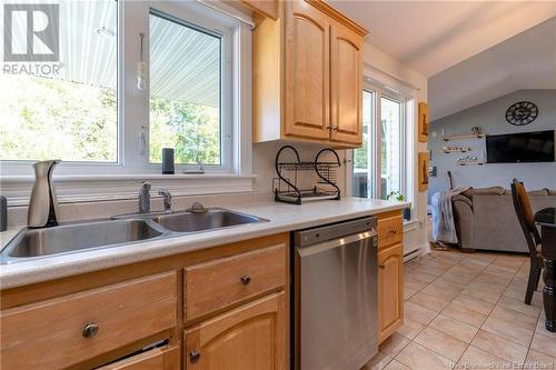
<svg viewBox="0 0 556 370"><path fill-rule="evenodd" d="M549 18L556 1L329 0L369 30L367 41L434 76Z"/></svg>

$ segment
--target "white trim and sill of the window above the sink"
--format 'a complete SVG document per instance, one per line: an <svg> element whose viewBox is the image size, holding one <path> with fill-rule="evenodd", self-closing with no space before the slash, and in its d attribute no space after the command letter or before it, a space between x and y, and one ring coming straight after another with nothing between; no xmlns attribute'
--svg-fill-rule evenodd
<svg viewBox="0 0 556 370"><path fill-rule="evenodd" d="M228 114L232 127L229 133L228 166L205 166L206 174L181 174L187 166L177 166L176 174L160 174L161 166L147 164L148 150L139 154L141 127L148 127L149 90L139 91L136 63L139 61L138 34L146 34L143 60L148 63L149 9L176 18L190 20L202 13L201 26L215 28L216 20L228 22L227 32L232 52L227 79L231 84L230 101L224 114ZM216 10L215 10L216 8ZM210 10L209 10L210 9ZM207 12L207 10L209 10ZM252 190L252 144L251 144L251 26L237 17L226 17L226 12L237 12L224 2L211 6L198 2L121 1L118 13L118 163L62 162L54 171L54 183L60 202L98 201L137 197L141 181L151 181L153 188L168 188L175 196L247 192ZM244 16L247 17L247 16ZM209 19L207 21L207 19ZM211 23L211 21L215 21ZM135 124L135 130L129 126ZM126 136L122 130L126 127ZM148 140L148 130L146 130ZM226 147L226 146L224 146ZM33 161L0 161L0 190L9 199L10 206L29 202L34 181ZM136 166L129 166L129 164ZM141 163L141 166L137 166ZM128 166L126 166L128 164ZM155 196L155 193L153 193Z"/></svg>

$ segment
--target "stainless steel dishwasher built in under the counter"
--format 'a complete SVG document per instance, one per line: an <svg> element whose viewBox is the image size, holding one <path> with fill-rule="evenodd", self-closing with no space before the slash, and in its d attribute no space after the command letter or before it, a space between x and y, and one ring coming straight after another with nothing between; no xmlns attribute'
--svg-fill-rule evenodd
<svg viewBox="0 0 556 370"><path fill-rule="evenodd" d="M294 233L294 363L359 370L378 352L377 220Z"/></svg>

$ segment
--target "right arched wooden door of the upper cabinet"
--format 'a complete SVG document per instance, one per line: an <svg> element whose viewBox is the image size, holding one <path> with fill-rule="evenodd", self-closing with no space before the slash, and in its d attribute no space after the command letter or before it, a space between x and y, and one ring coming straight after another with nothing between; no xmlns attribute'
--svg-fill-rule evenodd
<svg viewBox="0 0 556 370"><path fill-rule="evenodd" d="M360 144L363 139L363 39L337 24L330 34L331 137Z"/></svg>

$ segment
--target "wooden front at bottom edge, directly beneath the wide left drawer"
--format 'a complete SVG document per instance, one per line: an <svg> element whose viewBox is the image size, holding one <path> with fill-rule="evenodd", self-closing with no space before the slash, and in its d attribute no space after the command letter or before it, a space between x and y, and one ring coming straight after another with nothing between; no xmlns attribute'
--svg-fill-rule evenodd
<svg viewBox="0 0 556 370"><path fill-rule="evenodd" d="M132 356L97 370L179 370L179 347L165 347Z"/></svg>

